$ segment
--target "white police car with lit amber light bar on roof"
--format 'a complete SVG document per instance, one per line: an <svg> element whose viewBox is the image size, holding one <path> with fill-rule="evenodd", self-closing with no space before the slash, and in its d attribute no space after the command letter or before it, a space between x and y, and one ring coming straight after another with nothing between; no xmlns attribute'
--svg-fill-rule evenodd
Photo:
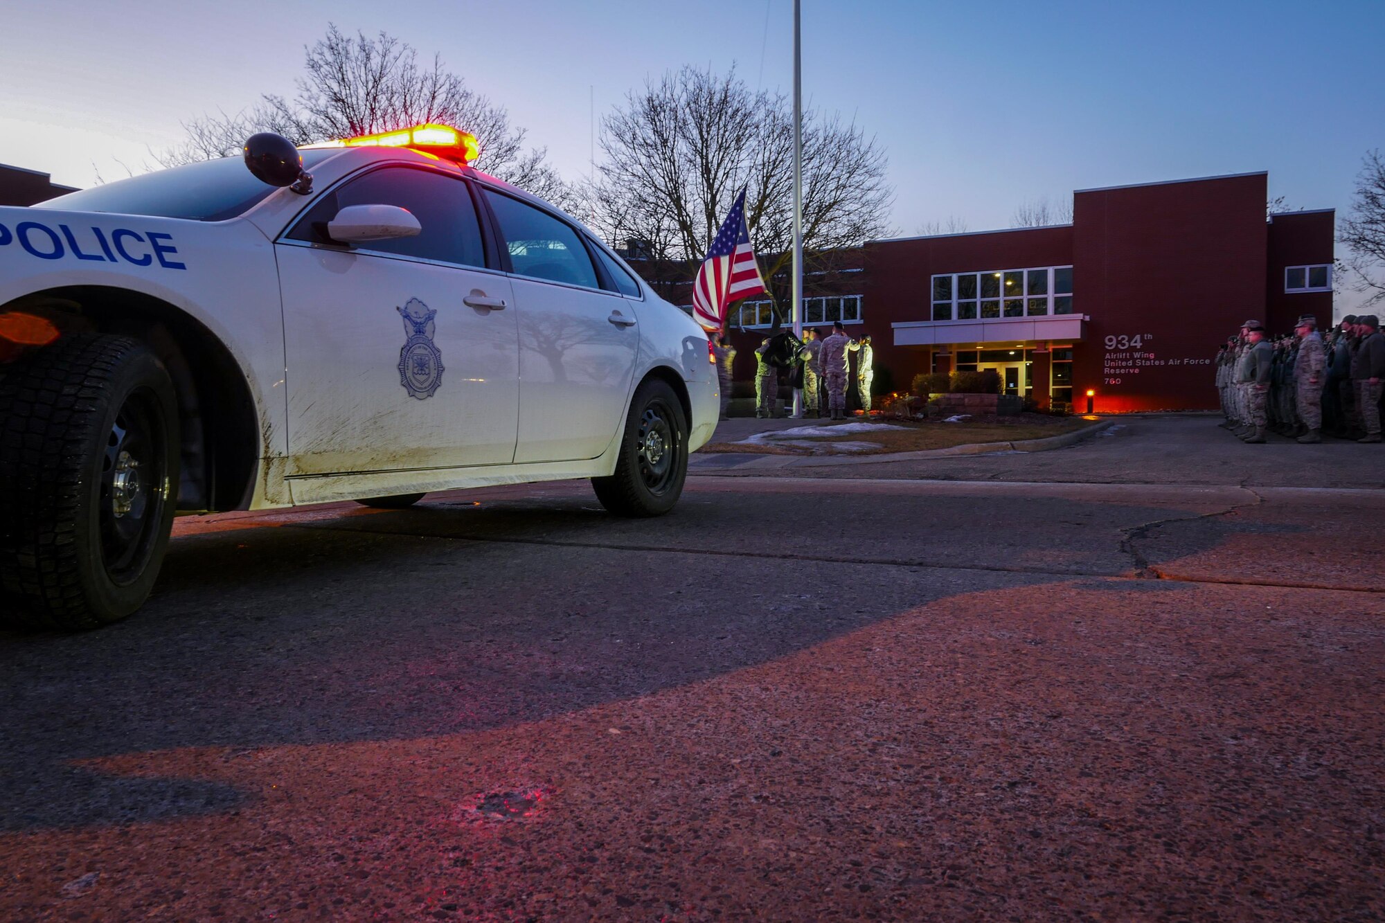
<svg viewBox="0 0 1385 923"><path fill-rule="evenodd" d="M706 335L475 154L258 134L0 208L0 626L130 614L175 510L578 477L672 509L716 425Z"/></svg>

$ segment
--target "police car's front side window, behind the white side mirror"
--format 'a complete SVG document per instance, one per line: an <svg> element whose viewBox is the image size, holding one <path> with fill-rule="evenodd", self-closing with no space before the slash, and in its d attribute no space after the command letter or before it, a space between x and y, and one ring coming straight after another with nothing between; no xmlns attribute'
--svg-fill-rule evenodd
<svg viewBox="0 0 1385 923"><path fill-rule="evenodd" d="M422 227L416 237L366 241L355 249L463 266L486 265L481 220L461 177L407 166L373 170L324 195L288 237L330 244L327 222L348 205L397 205L417 218Z"/></svg>

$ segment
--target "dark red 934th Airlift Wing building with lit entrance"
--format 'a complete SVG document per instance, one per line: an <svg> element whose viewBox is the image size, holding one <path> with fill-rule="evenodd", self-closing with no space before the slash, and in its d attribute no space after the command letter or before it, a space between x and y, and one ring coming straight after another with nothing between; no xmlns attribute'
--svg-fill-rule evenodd
<svg viewBox="0 0 1385 923"><path fill-rule="evenodd" d="M1266 173L1080 190L1072 225L870 241L805 280L806 316L871 334L877 391L994 369L1040 406L1091 389L1098 412L1215 409L1212 360L1242 322L1332 320L1332 209L1266 219ZM733 308L737 380L770 320Z"/></svg>

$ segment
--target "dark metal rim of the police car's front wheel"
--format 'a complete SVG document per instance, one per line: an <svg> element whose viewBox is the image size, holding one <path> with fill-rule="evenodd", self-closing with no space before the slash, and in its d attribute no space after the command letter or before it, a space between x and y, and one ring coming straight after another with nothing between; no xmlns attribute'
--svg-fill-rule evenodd
<svg viewBox="0 0 1385 923"><path fill-rule="evenodd" d="M101 559L116 583L138 579L168 502L168 446L154 395L126 396L101 457Z"/></svg>

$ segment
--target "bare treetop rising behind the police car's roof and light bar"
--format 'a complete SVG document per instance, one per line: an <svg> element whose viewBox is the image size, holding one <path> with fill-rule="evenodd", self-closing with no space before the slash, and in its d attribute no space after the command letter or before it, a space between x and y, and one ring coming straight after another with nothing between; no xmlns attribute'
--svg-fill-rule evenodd
<svg viewBox="0 0 1385 923"><path fill-rule="evenodd" d="M158 159L165 166L229 157L255 132L277 132L295 144L375 134L409 125L456 125L481 141L478 169L537 195L569 197L546 162L543 148L524 150L525 130L510 125L504 107L492 104L443 67L420 61L413 46L384 32L327 36L305 49L305 75L292 98L265 94L251 108L205 115L184 123L187 140Z"/></svg>

